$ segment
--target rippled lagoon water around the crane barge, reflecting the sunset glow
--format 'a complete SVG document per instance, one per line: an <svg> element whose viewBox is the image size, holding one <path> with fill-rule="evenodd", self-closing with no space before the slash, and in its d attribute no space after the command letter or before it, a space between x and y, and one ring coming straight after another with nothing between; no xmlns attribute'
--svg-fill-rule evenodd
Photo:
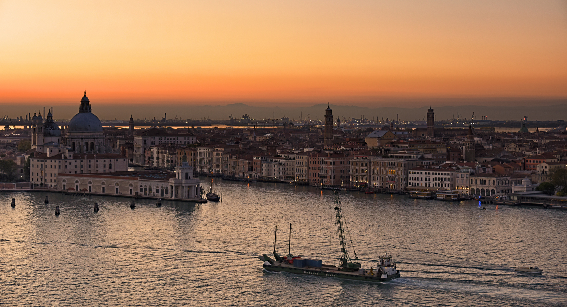
<svg viewBox="0 0 567 307"><path fill-rule="evenodd" d="M0 305L567 305L567 210L340 192L363 267L387 249L402 271L364 283L273 274L255 258L272 252L276 225L286 254L292 223L291 253L336 264L331 191L218 180L217 192L223 202L135 210L129 198L0 193ZM513 271L524 265L544 274Z"/></svg>

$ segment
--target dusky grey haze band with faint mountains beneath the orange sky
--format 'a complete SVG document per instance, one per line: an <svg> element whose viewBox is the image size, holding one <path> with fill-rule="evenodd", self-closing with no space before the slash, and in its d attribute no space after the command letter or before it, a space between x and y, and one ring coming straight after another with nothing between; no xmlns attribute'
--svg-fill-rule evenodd
<svg viewBox="0 0 567 307"><path fill-rule="evenodd" d="M532 102L533 104L533 102ZM547 107L541 108L542 105ZM79 103L65 105L47 105L45 109L53 107L54 119L71 119L78 113ZM0 116L8 115L14 119L16 116L26 118L27 113L33 115L34 111L43 114L44 106L39 105L8 105L3 106ZM211 119L211 120L228 120L229 115L235 118L247 114L253 119L264 118L282 118L286 116L289 119L307 119L310 115L311 120L321 118L327 103L314 103L308 106L251 106L247 103L229 103L226 105L138 105L132 106L128 104L105 104L91 101L92 113L100 119L120 119L127 120L130 115L134 119L161 119L167 114L168 119ZM365 116L367 119L372 118L390 118L395 119L399 116L400 120L422 120L426 115L426 110L433 107L437 120L449 119L455 116L460 118L470 118L474 113L477 119L481 116L488 116L491 120L521 120L523 116L528 116L528 120L567 120L567 100L549 100L538 103L537 106L527 105L501 105L501 106L482 106L482 105L460 105L448 106L441 103L430 103L421 105L420 107L400 107L396 104L389 106L357 106L357 105L337 105L331 103L333 115L335 119L340 116L345 118L360 118Z"/></svg>

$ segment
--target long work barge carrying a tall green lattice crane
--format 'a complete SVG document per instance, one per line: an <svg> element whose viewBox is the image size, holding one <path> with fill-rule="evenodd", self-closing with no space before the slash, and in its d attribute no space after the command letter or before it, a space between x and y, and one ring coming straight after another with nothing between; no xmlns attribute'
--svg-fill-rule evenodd
<svg viewBox="0 0 567 307"><path fill-rule="evenodd" d="M341 202L338 199L338 192L335 191L335 222L338 239L341 245L341 258L339 259L338 266L326 265L318 259L302 258L300 256L293 256L291 254L291 224L289 224L289 245L287 256L281 257L276 252L276 235L274 235L274 258L268 257L263 254L259 258L264 261L264 269L268 271L285 271L294 274L308 274L316 276L328 276L345 279L365 280L368 282L383 282L386 280L400 277L400 271L396 268L396 263L392 262L392 254L388 256L378 257L376 267L370 267L369 270L362 269L361 263L358 261L358 256L353 248L354 258L350 257L348 246L345 238L344 218L342 217Z"/></svg>

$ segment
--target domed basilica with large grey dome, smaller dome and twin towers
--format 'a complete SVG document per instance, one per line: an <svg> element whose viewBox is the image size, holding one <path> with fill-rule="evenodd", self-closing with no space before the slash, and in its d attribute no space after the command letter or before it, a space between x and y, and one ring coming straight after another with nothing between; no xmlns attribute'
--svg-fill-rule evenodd
<svg viewBox="0 0 567 307"><path fill-rule="evenodd" d="M44 109L45 111L45 109ZM65 152L65 149L75 153L111 153L111 146L105 146L103 126L100 119L91 112L87 91L81 98L79 113L77 113L61 134L61 129L53 122L53 110L49 110L45 122L39 115L32 118L32 148L49 156ZM62 145L61 143L65 144Z"/></svg>

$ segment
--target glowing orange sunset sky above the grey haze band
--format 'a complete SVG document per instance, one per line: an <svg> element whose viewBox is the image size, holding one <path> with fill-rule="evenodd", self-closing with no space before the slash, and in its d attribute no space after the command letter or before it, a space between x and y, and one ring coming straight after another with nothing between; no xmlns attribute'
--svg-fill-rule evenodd
<svg viewBox="0 0 567 307"><path fill-rule="evenodd" d="M567 1L2 1L0 103L567 97ZM402 103L403 104L403 103Z"/></svg>

